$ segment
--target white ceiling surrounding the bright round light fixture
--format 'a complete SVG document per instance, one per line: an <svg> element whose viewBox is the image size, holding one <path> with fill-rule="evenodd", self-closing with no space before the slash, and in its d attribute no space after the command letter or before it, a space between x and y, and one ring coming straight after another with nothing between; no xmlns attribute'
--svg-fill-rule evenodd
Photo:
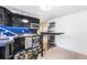
<svg viewBox="0 0 87 65"><path fill-rule="evenodd" d="M39 6L8 6L8 7L29 12L30 14L41 19L42 21L47 21L51 19L61 18L70 13L87 10L87 6L53 6L52 9L47 11L42 10Z"/></svg>

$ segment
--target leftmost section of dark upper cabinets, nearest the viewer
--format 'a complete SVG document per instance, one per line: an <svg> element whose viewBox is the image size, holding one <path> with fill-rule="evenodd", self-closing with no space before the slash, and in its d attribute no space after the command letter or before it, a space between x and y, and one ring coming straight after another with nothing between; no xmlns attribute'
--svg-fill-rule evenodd
<svg viewBox="0 0 87 65"><path fill-rule="evenodd" d="M12 13L0 7L0 25L12 25Z"/></svg>

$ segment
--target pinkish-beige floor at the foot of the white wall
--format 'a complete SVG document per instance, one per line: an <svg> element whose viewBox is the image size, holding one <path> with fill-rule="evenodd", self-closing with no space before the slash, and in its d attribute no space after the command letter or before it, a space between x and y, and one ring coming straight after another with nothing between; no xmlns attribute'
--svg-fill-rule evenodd
<svg viewBox="0 0 87 65"><path fill-rule="evenodd" d="M43 57L39 56L39 59L86 59L87 55L70 52L62 47L54 47L47 51Z"/></svg>

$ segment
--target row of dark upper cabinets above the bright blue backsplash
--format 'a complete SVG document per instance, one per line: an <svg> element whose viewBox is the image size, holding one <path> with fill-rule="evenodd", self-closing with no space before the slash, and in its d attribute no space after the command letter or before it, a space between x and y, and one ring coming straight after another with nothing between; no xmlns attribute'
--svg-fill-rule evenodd
<svg viewBox="0 0 87 65"><path fill-rule="evenodd" d="M29 22L23 23L22 20L26 19ZM40 24L40 20L33 17L22 15L18 13L13 13L9 9L4 7L0 7L0 24L9 25L9 26L25 26L31 28L32 23ZM33 24L34 26L34 24Z"/></svg>

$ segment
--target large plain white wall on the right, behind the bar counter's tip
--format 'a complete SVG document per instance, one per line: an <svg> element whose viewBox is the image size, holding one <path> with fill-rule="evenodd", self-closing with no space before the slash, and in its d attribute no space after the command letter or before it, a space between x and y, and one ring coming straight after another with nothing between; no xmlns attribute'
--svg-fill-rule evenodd
<svg viewBox="0 0 87 65"><path fill-rule="evenodd" d="M87 11L69 14L54 20L55 32L64 32L56 36L56 44L61 47L87 53Z"/></svg>

